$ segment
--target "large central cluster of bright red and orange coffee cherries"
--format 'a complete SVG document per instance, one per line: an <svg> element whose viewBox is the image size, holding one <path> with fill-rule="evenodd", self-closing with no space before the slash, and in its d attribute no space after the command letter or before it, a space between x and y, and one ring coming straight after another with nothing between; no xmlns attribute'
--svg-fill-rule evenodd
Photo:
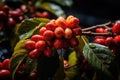
<svg viewBox="0 0 120 80"><path fill-rule="evenodd" d="M76 36L82 34L79 19L72 15L66 19L63 17L52 19L41 27L38 33L32 35L31 39L24 43L24 47L29 51L28 55L32 59L41 54L51 57L54 55L53 49L74 48L79 44Z"/></svg>

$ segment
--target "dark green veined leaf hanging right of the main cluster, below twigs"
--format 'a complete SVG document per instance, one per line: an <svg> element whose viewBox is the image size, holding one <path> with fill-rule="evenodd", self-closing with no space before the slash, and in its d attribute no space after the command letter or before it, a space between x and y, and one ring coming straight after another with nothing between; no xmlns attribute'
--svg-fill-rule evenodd
<svg viewBox="0 0 120 80"><path fill-rule="evenodd" d="M108 47L100 44L89 43L83 48L83 55L91 66L112 78L112 75L108 70L108 66L114 59L114 55Z"/></svg>

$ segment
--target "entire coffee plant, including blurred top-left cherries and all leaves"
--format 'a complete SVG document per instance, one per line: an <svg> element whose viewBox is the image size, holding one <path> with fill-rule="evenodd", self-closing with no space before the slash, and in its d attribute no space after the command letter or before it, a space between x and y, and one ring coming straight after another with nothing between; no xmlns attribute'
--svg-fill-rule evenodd
<svg viewBox="0 0 120 80"><path fill-rule="evenodd" d="M120 21L83 28L59 6L72 0L4 1L0 80L120 80Z"/></svg>

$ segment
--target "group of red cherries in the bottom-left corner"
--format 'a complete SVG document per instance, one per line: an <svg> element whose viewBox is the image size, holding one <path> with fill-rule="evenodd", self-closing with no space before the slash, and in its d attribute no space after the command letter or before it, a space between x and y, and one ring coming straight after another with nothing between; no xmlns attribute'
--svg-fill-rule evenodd
<svg viewBox="0 0 120 80"><path fill-rule="evenodd" d="M7 79L10 77L10 59L4 59L0 62L0 79Z"/></svg>

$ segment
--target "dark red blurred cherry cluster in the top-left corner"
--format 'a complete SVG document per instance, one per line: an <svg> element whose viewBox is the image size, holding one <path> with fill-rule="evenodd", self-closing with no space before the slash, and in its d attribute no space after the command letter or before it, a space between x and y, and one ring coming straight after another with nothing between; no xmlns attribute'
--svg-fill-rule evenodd
<svg viewBox="0 0 120 80"><path fill-rule="evenodd" d="M21 9L12 10L8 5L4 5L0 11L0 28L12 28L16 23L20 23L25 17Z"/></svg>

